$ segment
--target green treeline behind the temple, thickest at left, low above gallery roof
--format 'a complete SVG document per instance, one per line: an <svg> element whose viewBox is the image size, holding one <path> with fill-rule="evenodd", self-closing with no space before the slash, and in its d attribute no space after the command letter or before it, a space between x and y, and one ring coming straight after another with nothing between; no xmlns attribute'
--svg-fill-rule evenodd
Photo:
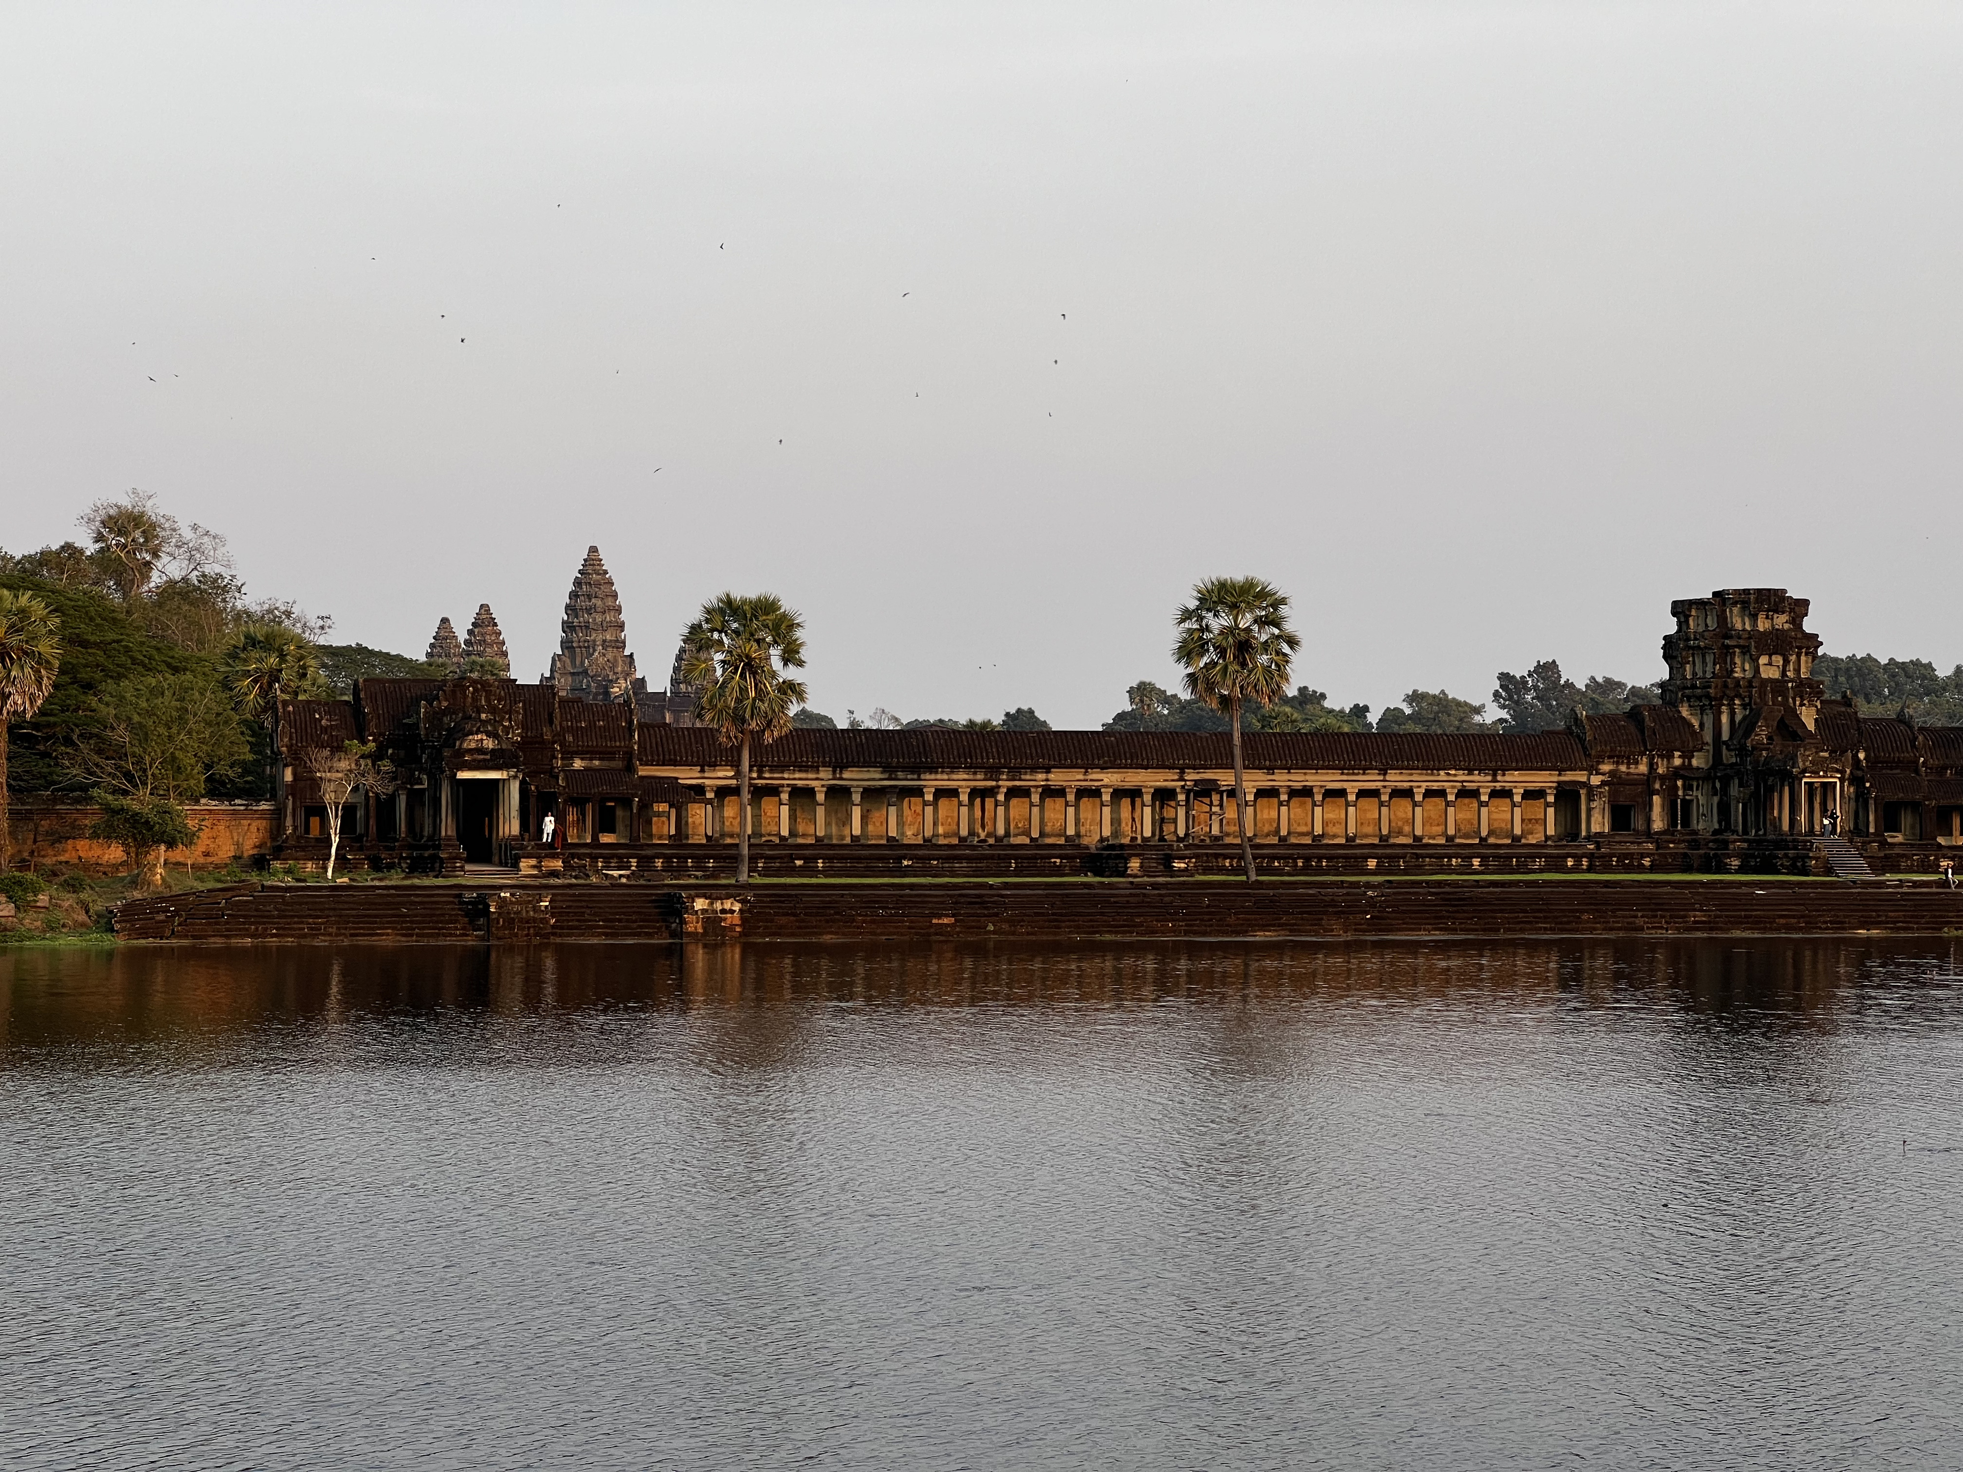
<svg viewBox="0 0 1963 1472"><path fill-rule="evenodd" d="M249 599L226 540L181 524L149 497L102 500L80 518L86 540L39 552L0 552L0 587L33 593L61 620L53 691L31 720L12 726L8 789L112 791L183 803L198 797L257 799L269 791L267 712L241 697L241 650L285 636L312 652L304 687L285 695L347 695L355 679L444 675L414 656L330 644L330 620L291 601ZM277 644L277 638L275 638ZM1875 714L1906 710L1926 724L1963 724L1963 665L1947 675L1926 659L1822 656L1814 675L1828 695L1853 695ZM1372 718L1370 707L1333 707L1301 685L1270 707L1248 710L1248 730L1545 730L1574 709L1625 710L1657 699L1655 685L1592 675L1580 685L1543 659L1523 675L1502 671L1488 701L1449 691L1411 691ZM844 722L801 710L799 726L879 730L1048 730L1033 709L1001 716L923 716L887 710ZM1152 681L1125 693L1105 730L1225 730L1209 705Z"/></svg>

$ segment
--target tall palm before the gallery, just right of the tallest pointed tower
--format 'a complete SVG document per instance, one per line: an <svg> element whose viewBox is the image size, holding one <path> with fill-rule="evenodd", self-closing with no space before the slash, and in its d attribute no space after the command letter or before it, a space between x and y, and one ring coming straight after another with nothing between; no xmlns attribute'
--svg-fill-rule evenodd
<svg viewBox="0 0 1963 1472"><path fill-rule="evenodd" d="M681 681L697 691L695 714L736 742L736 883L750 883L750 746L773 742L809 699L805 620L775 593L724 593L703 605L681 636Z"/></svg>

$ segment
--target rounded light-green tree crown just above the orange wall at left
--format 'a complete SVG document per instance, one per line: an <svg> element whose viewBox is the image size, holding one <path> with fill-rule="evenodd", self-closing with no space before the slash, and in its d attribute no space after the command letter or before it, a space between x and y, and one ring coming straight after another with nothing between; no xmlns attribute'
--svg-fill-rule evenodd
<svg viewBox="0 0 1963 1472"><path fill-rule="evenodd" d="M208 669L106 685L67 752L71 773L137 803L190 803L247 758L232 701Z"/></svg>

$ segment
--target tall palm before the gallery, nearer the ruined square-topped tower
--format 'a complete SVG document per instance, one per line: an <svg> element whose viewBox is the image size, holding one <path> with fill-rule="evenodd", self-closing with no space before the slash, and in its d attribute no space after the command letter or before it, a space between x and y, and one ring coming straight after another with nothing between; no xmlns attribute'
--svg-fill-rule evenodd
<svg viewBox="0 0 1963 1472"><path fill-rule="evenodd" d="M1254 838L1247 820L1241 763L1241 707L1274 705L1301 636L1288 626L1288 595L1260 577L1209 577L1178 612L1172 657L1186 665L1186 693L1227 714L1233 728L1233 801L1241 822L1241 862L1254 883Z"/></svg>

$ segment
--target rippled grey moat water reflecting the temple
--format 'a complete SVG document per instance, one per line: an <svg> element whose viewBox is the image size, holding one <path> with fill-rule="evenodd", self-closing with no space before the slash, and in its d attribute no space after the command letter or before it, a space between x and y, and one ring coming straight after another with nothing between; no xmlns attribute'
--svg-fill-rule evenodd
<svg viewBox="0 0 1963 1472"><path fill-rule="evenodd" d="M0 952L6 1468L1963 1460L1963 950Z"/></svg>

